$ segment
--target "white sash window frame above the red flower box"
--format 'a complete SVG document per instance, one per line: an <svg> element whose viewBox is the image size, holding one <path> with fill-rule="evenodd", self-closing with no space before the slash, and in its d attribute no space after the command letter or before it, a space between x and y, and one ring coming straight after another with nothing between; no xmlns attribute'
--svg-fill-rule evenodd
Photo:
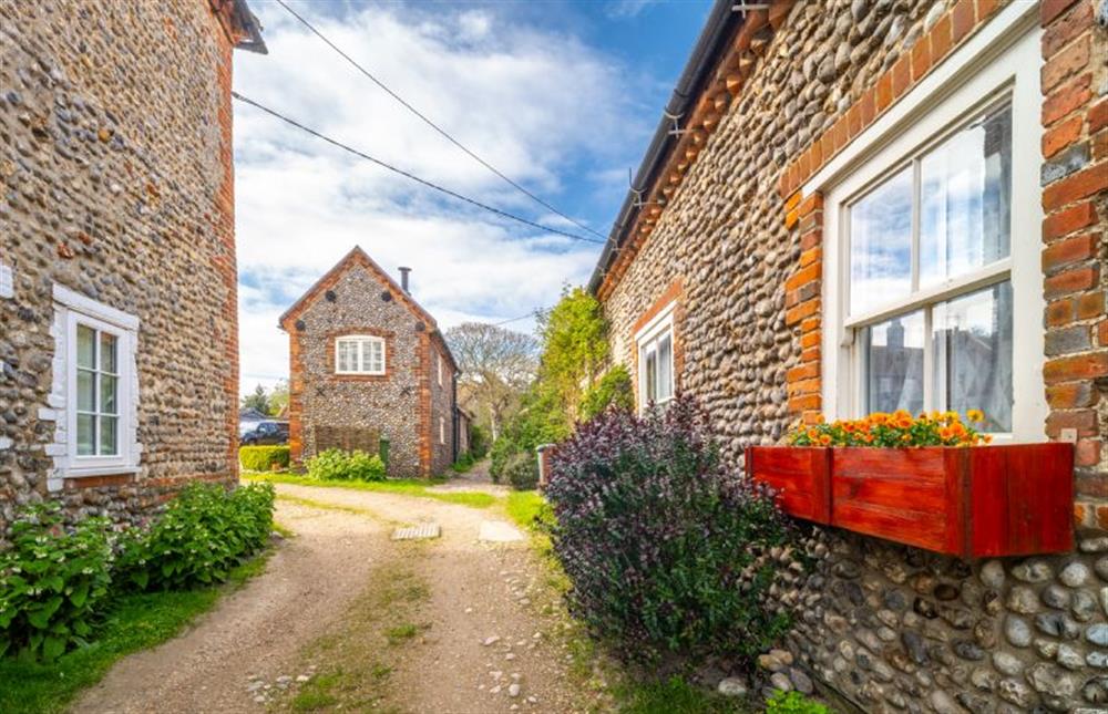
<svg viewBox="0 0 1108 714"><path fill-rule="evenodd" d="M823 406L828 418L864 411L861 328L915 308L1010 279L1013 290L1012 432L1001 441L1042 441L1047 405L1043 383L1044 329L1039 187L1039 34L1034 3L1013 3L925 77L885 116L802 188L824 194ZM848 318L848 207L929 147L1005 101L1012 105L1010 255L972 275ZM930 329L930 325L927 325ZM925 330L930 341L930 332ZM930 346L930 344L929 344ZM933 375L925 370L925 392Z"/></svg>

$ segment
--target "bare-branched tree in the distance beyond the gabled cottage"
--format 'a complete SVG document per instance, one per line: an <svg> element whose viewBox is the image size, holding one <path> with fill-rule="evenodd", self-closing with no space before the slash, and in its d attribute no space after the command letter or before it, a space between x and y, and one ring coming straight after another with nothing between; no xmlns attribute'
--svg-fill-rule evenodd
<svg viewBox="0 0 1108 714"><path fill-rule="evenodd" d="M461 370L459 389L488 416L495 441L507 415L531 384L537 366L534 338L493 324L466 322L445 333Z"/></svg>

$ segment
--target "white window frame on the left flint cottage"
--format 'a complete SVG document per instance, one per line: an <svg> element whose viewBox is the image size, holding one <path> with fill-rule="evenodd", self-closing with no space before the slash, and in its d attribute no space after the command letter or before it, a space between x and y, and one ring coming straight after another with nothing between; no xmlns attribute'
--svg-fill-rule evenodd
<svg viewBox="0 0 1108 714"><path fill-rule="evenodd" d="M138 380L135 364L135 350L138 341L138 318L96 302L62 286L53 289L54 309L58 311L59 324L64 330L64 394L65 410L64 436L65 461L60 475L66 478L80 476L107 476L132 474L138 470L141 447L137 443L137 401ZM79 325L85 325L111 334L116 340L116 446L117 453L112 455L78 454L76 417L78 417L78 345L76 331ZM98 353L100 350L98 340ZM99 362L99 358L98 358ZM99 363L98 363L99 368ZM100 394L98 390L96 399ZM98 431L96 438L100 433ZM99 449L99 445L98 445Z"/></svg>

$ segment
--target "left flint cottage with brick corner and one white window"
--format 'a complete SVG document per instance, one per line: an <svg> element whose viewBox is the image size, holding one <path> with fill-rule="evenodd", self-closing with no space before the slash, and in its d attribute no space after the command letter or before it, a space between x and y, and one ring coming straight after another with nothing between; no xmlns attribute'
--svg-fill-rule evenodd
<svg viewBox="0 0 1108 714"><path fill-rule="evenodd" d="M237 482L236 46L244 0L0 2L0 535Z"/></svg>

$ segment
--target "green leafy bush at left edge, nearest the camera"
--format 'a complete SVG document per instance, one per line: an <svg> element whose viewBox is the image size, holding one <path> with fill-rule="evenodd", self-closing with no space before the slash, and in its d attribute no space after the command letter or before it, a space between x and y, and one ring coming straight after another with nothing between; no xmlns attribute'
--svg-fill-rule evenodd
<svg viewBox="0 0 1108 714"><path fill-rule="evenodd" d="M53 660L84 642L112 581L109 530L104 518L65 530L57 504L16 520L0 553L0 655Z"/></svg>

